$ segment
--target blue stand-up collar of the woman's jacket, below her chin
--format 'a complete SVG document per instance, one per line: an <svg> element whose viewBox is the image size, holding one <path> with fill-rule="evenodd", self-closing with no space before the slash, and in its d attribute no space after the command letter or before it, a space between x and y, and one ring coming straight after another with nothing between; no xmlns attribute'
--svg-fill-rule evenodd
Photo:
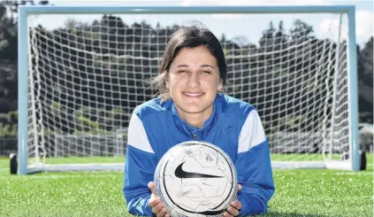
<svg viewBox="0 0 374 217"><path fill-rule="evenodd" d="M174 102L172 102L172 119L179 131L190 140L202 140L210 133L210 130L217 122L218 96L213 102L213 112L211 113L210 118L204 122L202 128L195 128L194 126L189 125L186 120L181 119Z"/></svg>

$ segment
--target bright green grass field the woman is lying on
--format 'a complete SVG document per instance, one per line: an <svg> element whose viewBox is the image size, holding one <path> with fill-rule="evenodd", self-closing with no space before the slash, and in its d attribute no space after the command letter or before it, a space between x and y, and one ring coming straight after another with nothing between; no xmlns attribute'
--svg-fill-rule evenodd
<svg viewBox="0 0 374 217"><path fill-rule="evenodd" d="M274 170L276 193L264 216L373 216L373 155L368 159L361 172ZM0 159L0 216L132 216L122 184L120 172L11 175L9 159Z"/></svg>

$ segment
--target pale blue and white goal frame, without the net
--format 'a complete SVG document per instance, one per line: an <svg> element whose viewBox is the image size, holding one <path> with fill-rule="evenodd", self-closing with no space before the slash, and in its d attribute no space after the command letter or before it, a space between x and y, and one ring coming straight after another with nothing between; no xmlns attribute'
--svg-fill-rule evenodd
<svg viewBox="0 0 374 217"><path fill-rule="evenodd" d="M40 171L74 171L74 170L121 170L123 164L103 165L65 165L33 168L27 166L27 105L28 105L28 57L27 57L27 16L30 14L93 14L93 13L122 13L122 14L152 14L152 13L347 13L347 89L348 89L348 119L349 119L349 161L294 161L271 162L273 168L332 168L358 171L359 137L358 137L358 97L357 97L357 63L355 42L355 6L352 5L314 5L314 6L19 6L19 74L18 74L18 174L30 174Z"/></svg>

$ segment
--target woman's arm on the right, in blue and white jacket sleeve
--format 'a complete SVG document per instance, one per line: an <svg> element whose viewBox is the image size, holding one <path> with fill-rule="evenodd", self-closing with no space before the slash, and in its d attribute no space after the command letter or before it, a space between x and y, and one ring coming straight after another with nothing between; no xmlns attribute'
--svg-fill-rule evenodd
<svg viewBox="0 0 374 217"><path fill-rule="evenodd" d="M248 114L239 139L235 160L238 181L242 186L238 199L242 205L240 216L266 213L274 194L269 144L256 110Z"/></svg>

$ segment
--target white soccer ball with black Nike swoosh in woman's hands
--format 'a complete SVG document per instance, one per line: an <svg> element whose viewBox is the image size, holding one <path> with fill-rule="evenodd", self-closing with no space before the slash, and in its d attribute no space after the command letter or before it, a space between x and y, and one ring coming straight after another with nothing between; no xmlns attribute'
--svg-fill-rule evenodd
<svg viewBox="0 0 374 217"><path fill-rule="evenodd" d="M154 178L171 216L222 216L237 194L233 161L211 143L175 145L158 162Z"/></svg>

